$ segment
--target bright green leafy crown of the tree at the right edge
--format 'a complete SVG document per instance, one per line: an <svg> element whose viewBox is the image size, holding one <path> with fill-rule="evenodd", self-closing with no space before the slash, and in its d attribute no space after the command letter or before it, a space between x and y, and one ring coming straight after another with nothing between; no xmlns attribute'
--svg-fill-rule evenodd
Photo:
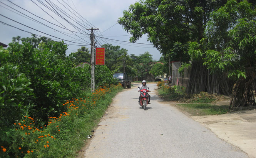
<svg viewBox="0 0 256 158"><path fill-rule="evenodd" d="M256 69L256 3L229 0L212 12L207 23L204 65L213 71L228 71L229 77L246 78L246 71Z"/></svg>

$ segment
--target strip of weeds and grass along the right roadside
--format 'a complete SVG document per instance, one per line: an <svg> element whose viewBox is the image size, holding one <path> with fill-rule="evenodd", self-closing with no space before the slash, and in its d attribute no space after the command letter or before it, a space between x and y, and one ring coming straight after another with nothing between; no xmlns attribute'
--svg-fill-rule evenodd
<svg viewBox="0 0 256 158"><path fill-rule="evenodd" d="M158 94L165 101L176 101L177 107L189 115L216 115L226 114L229 105L214 105L215 101L224 100L223 95L208 94L201 92L199 94L186 94L185 87L164 85L164 82L157 83ZM186 104L185 104L186 103Z"/></svg>

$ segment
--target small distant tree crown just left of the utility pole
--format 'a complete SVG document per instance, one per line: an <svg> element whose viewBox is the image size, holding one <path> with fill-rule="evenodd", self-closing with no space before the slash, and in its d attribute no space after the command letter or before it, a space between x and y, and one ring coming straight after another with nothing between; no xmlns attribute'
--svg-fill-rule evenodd
<svg viewBox="0 0 256 158"><path fill-rule="evenodd" d="M75 65L78 65L84 62L90 63L89 49L84 46L77 49L77 52L70 53L69 57L74 62Z"/></svg>

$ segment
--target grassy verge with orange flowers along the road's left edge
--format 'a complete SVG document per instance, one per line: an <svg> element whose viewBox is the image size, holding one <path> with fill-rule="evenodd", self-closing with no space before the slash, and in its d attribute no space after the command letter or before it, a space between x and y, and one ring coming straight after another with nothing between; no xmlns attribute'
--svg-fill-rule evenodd
<svg viewBox="0 0 256 158"><path fill-rule="evenodd" d="M37 120L27 116L14 122L13 143L8 148L1 144L0 157L75 157L112 98L120 91L120 84L111 85L99 87L84 98L66 100L62 106L68 110L59 117L49 117L48 124L41 127L35 127Z"/></svg>

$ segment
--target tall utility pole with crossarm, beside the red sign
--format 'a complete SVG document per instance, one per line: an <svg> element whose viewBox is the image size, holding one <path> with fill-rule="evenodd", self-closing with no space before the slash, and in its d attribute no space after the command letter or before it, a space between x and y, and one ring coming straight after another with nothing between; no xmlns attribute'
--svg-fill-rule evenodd
<svg viewBox="0 0 256 158"><path fill-rule="evenodd" d="M91 29L86 29L86 30L91 30L91 34L90 34L90 40L91 40L91 64L92 64L92 71L91 71L91 92L94 92L95 89L95 77L94 77L94 71L95 71L95 42L94 42L94 30L99 30L98 28L91 28Z"/></svg>

